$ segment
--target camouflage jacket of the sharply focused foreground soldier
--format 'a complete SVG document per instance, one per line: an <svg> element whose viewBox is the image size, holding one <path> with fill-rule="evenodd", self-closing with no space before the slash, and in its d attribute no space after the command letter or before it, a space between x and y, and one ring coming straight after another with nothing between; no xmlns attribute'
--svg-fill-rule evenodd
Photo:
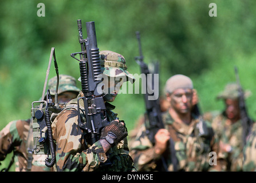
<svg viewBox="0 0 256 183"><path fill-rule="evenodd" d="M81 102L82 100L80 100ZM80 103L80 108L83 108ZM117 118L115 106L105 103L107 118ZM85 119L84 119L85 120ZM136 170L129 156L127 138L104 153L100 141L85 146L85 133L78 127L77 99L71 100L52 124L56 141L57 171L132 171Z"/></svg>

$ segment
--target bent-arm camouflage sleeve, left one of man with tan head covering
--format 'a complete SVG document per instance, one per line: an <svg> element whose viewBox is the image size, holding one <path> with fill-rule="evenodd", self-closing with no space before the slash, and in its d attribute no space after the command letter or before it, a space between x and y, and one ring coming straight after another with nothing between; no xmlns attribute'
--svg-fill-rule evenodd
<svg viewBox="0 0 256 183"><path fill-rule="evenodd" d="M136 140L132 143L130 154L135 167L139 171L151 171L155 168L156 162L159 161L160 155L155 153L152 142L145 134L144 126L142 126Z"/></svg>

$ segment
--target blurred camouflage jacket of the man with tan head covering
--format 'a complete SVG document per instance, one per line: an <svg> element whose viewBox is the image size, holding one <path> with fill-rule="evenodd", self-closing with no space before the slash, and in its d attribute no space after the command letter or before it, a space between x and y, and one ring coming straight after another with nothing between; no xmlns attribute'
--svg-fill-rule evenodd
<svg viewBox="0 0 256 183"><path fill-rule="evenodd" d="M168 112L163 114L166 129L174 140L175 154L178 160L178 171L209 171L225 169L225 161L219 158L219 144L214 132L207 122L193 118L190 125L174 121ZM131 156L139 171L173 171L174 165L168 148L162 156L154 152L154 147L145 135L145 128L141 128L131 147ZM216 152L216 165L210 165L210 152Z"/></svg>

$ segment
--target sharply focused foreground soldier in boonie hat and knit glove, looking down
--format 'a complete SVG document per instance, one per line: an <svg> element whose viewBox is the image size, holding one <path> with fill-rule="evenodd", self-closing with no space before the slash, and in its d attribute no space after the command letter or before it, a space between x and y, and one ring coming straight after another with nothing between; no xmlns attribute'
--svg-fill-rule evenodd
<svg viewBox="0 0 256 183"><path fill-rule="evenodd" d="M133 83L135 78L127 71L125 59L113 51L100 51L102 73L109 80L121 77ZM116 79L115 79L116 80ZM119 79L117 79L119 80ZM66 105L66 108L55 118L52 124L53 138L56 140L56 166L58 171L133 171L132 158L129 156L127 129L112 110L115 106L109 102L115 100L120 81L108 82L103 97L109 125L101 130L100 140L94 144L85 142L85 133L78 126L77 99ZM107 87L108 86L108 87ZM83 96L80 92L78 97ZM80 100L82 101L82 100ZM80 104L84 112L84 102ZM104 115L103 115L104 116ZM85 118L83 119L84 122ZM111 130L113 129L113 130Z"/></svg>

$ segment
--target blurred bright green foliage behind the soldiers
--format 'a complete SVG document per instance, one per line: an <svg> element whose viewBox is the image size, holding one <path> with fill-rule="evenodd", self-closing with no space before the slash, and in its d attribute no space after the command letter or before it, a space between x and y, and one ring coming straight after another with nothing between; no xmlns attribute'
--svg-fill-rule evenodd
<svg viewBox="0 0 256 183"><path fill-rule="evenodd" d="M45 17L37 16L38 3L44 3ZM217 17L208 15L210 3L216 3ZM256 118L256 1L2 0L0 16L0 129L30 118L31 102L42 95L52 47L60 74L80 76L78 61L70 57L80 51L77 19L82 19L84 37L85 22L95 21L99 49L124 55L132 74L140 74L134 59L139 55L135 32L140 31L144 61L160 62L161 94L171 75L188 75L203 113L224 108L216 95L235 82L237 66L241 85L253 93L246 104ZM49 78L54 75L52 66ZM120 94L113 104L128 130L145 111L141 94Z"/></svg>

